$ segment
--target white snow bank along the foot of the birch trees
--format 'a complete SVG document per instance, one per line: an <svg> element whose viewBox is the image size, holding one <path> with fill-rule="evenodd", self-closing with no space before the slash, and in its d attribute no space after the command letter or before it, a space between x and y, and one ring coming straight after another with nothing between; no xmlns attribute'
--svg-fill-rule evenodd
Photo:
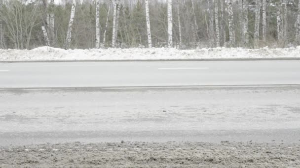
<svg viewBox="0 0 300 168"><path fill-rule="evenodd" d="M0 50L0 61L49 60L156 60L156 59L238 59L238 58L300 58L300 47L286 49L213 48L178 50L151 49L89 49L63 50L38 47L33 50Z"/></svg>

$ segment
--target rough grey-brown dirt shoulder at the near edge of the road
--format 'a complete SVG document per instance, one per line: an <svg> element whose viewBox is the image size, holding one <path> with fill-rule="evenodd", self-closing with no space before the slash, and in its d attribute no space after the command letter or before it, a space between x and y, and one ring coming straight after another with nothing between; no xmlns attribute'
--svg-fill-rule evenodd
<svg viewBox="0 0 300 168"><path fill-rule="evenodd" d="M300 143L120 142L0 147L0 168L299 168Z"/></svg>

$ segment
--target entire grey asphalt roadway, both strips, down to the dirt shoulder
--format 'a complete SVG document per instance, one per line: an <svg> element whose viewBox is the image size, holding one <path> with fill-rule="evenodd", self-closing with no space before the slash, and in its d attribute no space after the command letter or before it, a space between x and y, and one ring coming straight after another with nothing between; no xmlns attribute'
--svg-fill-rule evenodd
<svg viewBox="0 0 300 168"><path fill-rule="evenodd" d="M298 142L299 63L3 63L0 145L120 140Z"/></svg>

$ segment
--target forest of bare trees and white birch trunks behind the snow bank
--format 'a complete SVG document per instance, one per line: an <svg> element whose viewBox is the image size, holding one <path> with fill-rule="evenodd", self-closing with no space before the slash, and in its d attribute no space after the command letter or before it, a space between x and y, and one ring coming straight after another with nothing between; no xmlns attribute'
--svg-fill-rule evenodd
<svg viewBox="0 0 300 168"><path fill-rule="evenodd" d="M290 47L300 0L0 0L0 48Z"/></svg>

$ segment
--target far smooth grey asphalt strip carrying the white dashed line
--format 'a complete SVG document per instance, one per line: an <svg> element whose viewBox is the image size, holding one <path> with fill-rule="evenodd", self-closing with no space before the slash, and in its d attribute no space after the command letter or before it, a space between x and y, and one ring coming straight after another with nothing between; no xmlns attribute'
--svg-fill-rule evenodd
<svg viewBox="0 0 300 168"><path fill-rule="evenodd" d="M300 84L300 60L0 64L0 88Z"/></svg>

